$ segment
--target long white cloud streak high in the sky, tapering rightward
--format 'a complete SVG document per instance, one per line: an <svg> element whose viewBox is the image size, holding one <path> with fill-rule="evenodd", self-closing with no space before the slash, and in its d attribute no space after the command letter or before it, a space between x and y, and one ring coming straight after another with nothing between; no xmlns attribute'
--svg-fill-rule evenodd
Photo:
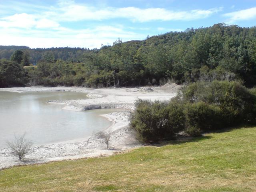
<svg viewBox="0 0 256 192"><path fill-rule="evenodd" d="M112 18L126 18L133 22L196 20L206 18L222 10L222 8L214 8L208 10L172 11L164 8L142 9L136 7L107 7L105 9L98 9L74 2L61 5L62 6L56 10L57 12L51 13L52 16L58 14L58 19L62 21L106 20Z"/></svg>

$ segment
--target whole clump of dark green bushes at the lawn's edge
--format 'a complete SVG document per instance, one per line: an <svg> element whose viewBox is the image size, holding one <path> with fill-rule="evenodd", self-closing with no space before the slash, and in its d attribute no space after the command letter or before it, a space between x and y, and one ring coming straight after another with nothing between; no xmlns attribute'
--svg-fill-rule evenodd
<svg viewBox="0 0 256 192"><path fill-rule="evenodd" d="M183 89L169 104L137 100L131 127L144 142L168 140L185 130L197 136L239 124L256 123L256 88L241 82L196 82Z"/></svg>

